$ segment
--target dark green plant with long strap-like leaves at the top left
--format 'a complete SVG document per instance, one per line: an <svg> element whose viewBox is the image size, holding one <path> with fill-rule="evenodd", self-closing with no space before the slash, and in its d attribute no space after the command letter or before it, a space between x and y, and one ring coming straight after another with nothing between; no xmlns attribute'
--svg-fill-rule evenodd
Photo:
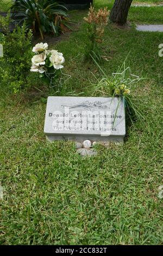
<svg viewBox="0 0 163 256"><path fill-rule="evenodd" d="M34 33L39 31L41 39L45 33L59 34L72 23L68 20L67 8L55 0L14 0L11 11L14 19L20 14L20 22L26 21Z"/></svg>

